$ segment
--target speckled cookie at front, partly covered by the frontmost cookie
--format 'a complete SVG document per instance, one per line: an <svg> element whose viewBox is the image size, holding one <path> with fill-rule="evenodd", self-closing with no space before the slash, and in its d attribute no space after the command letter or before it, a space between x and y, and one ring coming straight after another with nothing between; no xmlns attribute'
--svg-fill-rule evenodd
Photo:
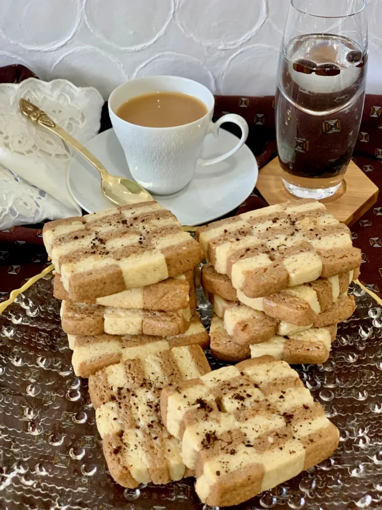
<svg viewBox="0 0 382 510"><path fill-rule="evenodd" d="M168 384L210 371L198 345L152 353L108 366L89 378L89 392L110 474L123 487L169 483L193 474L181 458L179 440L163 426L159 397Z"/></svg>

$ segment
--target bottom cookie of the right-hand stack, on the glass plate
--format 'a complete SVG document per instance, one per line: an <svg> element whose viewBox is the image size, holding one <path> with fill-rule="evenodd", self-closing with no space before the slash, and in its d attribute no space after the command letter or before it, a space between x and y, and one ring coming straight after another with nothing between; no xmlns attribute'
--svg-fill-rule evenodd
<svg viewBox="0 0 382 510"><path fill-rule="evenodd" d="M313 365L328 360L331 343L336 338L337 325L311 327L286 336L274 335L257 344L237 344L228 335L224 322L213 316L210 327L210 351L214 358L238 362L268 354L291 365Z"/></svg>

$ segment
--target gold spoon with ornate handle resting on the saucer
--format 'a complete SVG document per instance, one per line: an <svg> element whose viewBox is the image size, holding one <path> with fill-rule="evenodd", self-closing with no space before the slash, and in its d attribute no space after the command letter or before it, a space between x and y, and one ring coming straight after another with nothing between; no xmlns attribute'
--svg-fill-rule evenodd
<svg viewBox="0 0 382 510"><path fill-rule="evenodd" d="M56 122L49 118L46 113L40 110L36 105L27 99L21 98L20 110L27 119L42 125L51 133L58 135L64 142L71 145L96 167L101 175L101 190L106 198L116 203L118 206L153 200L150 193L138 183L130 181L130 179L126 179L125 177L110 175L102 163L98 161L84 145L79 143L72 135L62 129L62 127L58 126Z"/></svg>

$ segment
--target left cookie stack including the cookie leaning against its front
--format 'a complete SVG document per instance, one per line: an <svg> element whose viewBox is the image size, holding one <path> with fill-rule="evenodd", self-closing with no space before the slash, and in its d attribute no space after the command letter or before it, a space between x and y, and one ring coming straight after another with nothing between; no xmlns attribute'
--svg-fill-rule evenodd
<svg viewBox="0 0 382 510"><path fill-rule="evenodd" d="M113 478L137 487L188 476L159 396L210 371L196 312L200 245L155 201L52 221L43 238L74 372L89 377Z"/></svg>

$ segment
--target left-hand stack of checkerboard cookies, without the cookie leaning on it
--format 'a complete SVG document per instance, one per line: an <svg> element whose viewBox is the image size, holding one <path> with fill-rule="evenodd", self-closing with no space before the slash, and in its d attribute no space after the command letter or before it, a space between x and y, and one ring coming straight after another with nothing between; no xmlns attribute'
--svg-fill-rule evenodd
<svg viewBox="0 0 382 510"><path fill-rule="evenodd" d="M52 221L43 238L76 375L123 361L133 346L208 345L193 278L203 252L157 202Z"/></svg>

